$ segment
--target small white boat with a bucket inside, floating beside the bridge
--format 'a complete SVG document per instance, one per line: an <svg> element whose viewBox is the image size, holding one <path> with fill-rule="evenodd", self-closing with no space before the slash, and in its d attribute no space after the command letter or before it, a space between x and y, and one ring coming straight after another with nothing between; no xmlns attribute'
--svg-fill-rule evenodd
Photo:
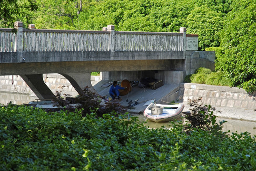
<svg viewBox="0 0 256 171"><path fill-rule="evenodd" d="M179 120L183 111L184 104L154 104L151 103L144 111L144 116L149 120L158 122L167 122Z"/></svg>

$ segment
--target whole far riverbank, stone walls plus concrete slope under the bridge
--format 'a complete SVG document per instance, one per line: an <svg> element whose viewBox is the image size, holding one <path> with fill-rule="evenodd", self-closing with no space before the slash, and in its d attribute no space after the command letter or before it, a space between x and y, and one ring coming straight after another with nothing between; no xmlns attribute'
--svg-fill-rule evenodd
<svg viewBox="0 0 256 171"><path fill-rule="evenodd" d="M62 90L62 94L78 95L69 81L61 75L48 74L44 75L43 78L53 93ZM26 101L23 103L29 102L26 95L37 99L20 76L0 76L0 82L0 91L3 92L5 90L8 93L24 95L25 97L22 99ZM100 95L108 95L109 87L102 86L108 82L111 82L111 80L102 80L100 76L91 76L91 83ZM62 85L65 86L61 88ZM134 106L134 109L130 109L128 112L142 114L147 107L144 104L148 100L156 99L158 103L163 104L164 102L175 100L185 104L184 111L186 112L189 111L188 99L196 99L198 97L202 97L204 104L210 104L220 110L221 113L216 114L220 118L256 122L256 112L254 111L256 109L255 96L248 95L243 89L226 86L183 83L180 85L164 84L157 90L152 90L150 87L133 87L133 90L128 95L122 96L121 104L127 106L130 100L134 103L138 99L140 104ZM0 98L7 99L6 96ZM13 103L18 102L15 97L12 99Z"/></svg>

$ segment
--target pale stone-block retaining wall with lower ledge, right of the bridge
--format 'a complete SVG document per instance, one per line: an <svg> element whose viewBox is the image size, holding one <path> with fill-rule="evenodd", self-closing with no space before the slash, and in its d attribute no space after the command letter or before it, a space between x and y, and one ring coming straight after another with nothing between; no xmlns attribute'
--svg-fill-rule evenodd
<svg viewBox="0 0 256 171"><path fill-rule="evenodd" d="M204 104L210 104L221 113L220 118L256 122L255 95L247 94L245 90L236 87L200 85L183 83L180 85L179 98L185 104L184 111L189 111L188 99L202 97Z"/></svg>

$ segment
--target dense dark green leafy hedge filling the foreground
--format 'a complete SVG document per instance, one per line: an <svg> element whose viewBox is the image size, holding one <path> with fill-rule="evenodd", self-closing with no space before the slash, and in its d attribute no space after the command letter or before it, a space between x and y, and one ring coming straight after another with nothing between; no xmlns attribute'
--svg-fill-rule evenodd
<svg viewBox="0 0 256 171"><path fill-rule="evenodd" d="M1 171L256 170L248 133L148 129L136 117L0 108Z"/></svg>

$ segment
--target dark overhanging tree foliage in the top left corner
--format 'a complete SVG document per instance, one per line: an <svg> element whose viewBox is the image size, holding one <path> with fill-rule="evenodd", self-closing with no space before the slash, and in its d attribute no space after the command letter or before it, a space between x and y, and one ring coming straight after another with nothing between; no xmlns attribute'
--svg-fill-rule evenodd
<svg viewBox="0 0 256 171"><path fill-rule="evenodd" d="M12 28L15 21L28 26L37 8L34 0L0 0L0 27Z"/></svg>

